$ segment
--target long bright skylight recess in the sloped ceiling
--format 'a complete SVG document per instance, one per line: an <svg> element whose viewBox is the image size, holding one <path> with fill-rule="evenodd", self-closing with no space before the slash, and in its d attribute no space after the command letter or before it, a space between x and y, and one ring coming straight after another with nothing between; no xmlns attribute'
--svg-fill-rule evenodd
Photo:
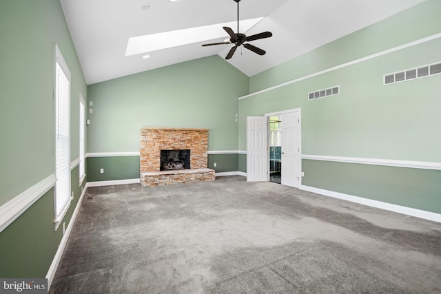
<svg viewBox="0 0 441 294"><path fill-rule="evenodd" d="M263 17L256 19L245 19L239 22L239 30L244 33L252 28ZM174 30L170 32L161 32L158 34L147 34L145 36L134 36L129 38L125 56L152 52L165 48L172 48L201 41L208 41L218 38L228 39L228 34L223 30L223 26L237 30L237 22L218 23L215 25L205 25L203 27L188 28L184 30Z"/></svg>

